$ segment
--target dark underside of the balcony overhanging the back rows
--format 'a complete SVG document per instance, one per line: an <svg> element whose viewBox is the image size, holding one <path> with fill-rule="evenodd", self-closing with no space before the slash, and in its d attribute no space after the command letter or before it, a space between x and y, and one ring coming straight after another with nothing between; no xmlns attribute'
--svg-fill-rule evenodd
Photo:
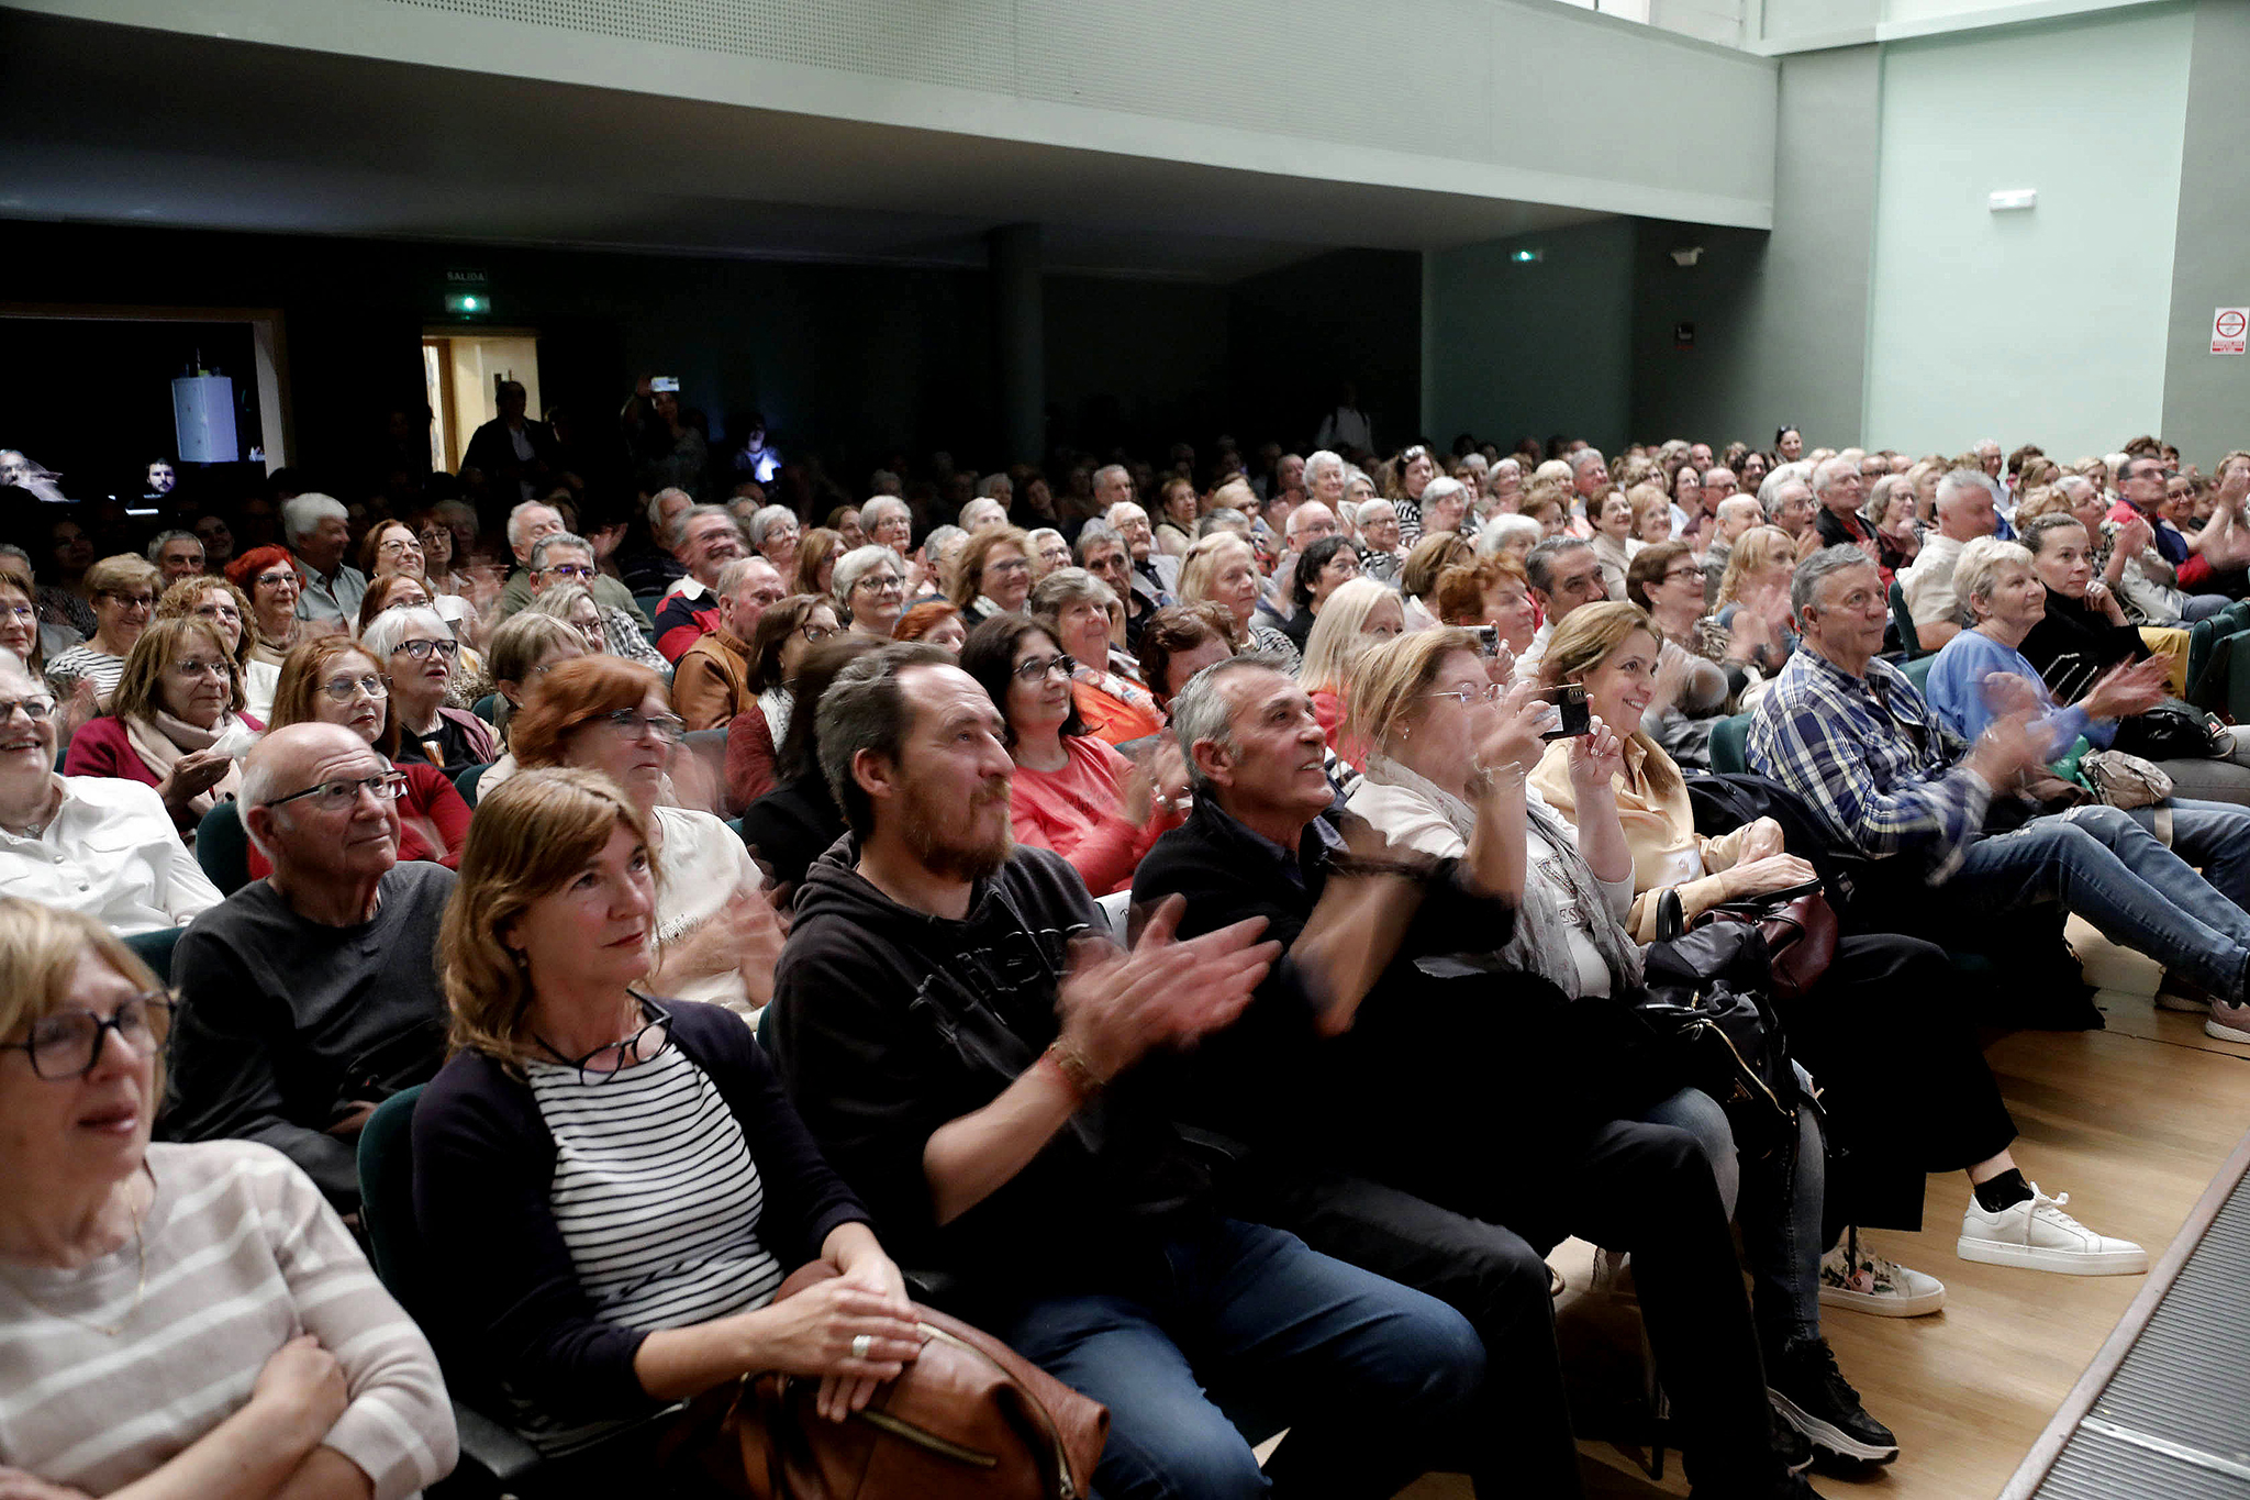
<svg viewBox="0 0 2250 1500"><path fill-rule="evenodd" d="M0 9L0 216L1235 281L1604 218Z"/></svg>

